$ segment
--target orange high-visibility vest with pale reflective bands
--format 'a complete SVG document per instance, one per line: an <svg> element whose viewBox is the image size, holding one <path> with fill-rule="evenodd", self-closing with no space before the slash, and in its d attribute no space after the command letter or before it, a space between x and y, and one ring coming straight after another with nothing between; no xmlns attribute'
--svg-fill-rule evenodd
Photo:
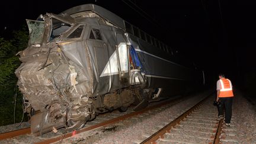
<svg viewBox="0 0 256 144"><path fill-rule="evenodd" d="M233 97L232 84L229 79L220 79L220 93L219 97Z"/></svg>

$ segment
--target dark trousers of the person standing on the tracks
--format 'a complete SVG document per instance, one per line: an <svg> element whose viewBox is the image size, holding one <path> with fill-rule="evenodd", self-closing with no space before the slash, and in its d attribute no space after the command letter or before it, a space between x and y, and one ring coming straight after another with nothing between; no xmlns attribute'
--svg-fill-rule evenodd
<svg viewBox="0 0 256 144"><path fill-rule="evenodd" d="M223 115L223 108L225 107L225 123L230 123L232 116L233 97L219 98L220 105L218 105L218 116Z"/></svg>

